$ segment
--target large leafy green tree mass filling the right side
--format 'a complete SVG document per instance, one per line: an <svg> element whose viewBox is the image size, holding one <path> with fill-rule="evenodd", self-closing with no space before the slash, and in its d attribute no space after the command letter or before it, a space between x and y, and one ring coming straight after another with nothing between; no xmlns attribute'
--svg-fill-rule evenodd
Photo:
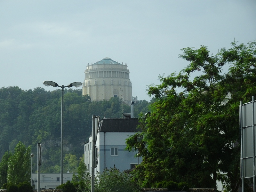
<svg viewBox="0 0 256 192"><path fill-rule="evenodd" d="M256 93L256 41L231 45L217 55L206 46L184 48L188 67L149 86L156 97L151 116L141 120L142 133L127 139L127 149L143 157L133 172L141 186L172 180L216 188L221 180L227 191L239 188L238 108Z"/></svg>

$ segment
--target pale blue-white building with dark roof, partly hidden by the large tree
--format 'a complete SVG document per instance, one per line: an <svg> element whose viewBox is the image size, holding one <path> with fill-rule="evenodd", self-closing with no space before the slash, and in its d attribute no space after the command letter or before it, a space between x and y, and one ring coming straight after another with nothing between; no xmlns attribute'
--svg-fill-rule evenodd
<svg viewBox="0 0 256 192"><path fill-rule="evenodd" d="M99 122L99 131L97 135L96 146L99 152L99 160L96 171L102 172L105 168L114 168L114 165L120 171L134 168L136 164L141 163L142 159L134 157L136 152L125 150L125 139L137 129L138 119L136 118L104 118ZM84 142L84 163L88 171L92 173L92 135L89 141Z"/></svg>

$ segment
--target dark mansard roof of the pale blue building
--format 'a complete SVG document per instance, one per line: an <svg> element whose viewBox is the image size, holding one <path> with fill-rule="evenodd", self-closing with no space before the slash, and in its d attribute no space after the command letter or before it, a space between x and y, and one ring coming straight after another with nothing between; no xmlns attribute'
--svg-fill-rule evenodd
<svg viewBox="0 0 256 192"><path fill-rule="evenodd" d="M99 132L140 132L138 119L101 119Z"/></svg>

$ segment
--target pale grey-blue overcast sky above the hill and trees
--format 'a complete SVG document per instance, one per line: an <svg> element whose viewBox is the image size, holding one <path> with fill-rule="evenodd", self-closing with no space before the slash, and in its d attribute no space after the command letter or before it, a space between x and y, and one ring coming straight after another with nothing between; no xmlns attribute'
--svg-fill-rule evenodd
<svg viewBox="0 0 256 192"><path fill-rule="evenodd" d="M0 87L84 81L87 63L127 63L132 95L188 65L184 47L216 54L256 39L256 0L0 0Z"/></svg>

